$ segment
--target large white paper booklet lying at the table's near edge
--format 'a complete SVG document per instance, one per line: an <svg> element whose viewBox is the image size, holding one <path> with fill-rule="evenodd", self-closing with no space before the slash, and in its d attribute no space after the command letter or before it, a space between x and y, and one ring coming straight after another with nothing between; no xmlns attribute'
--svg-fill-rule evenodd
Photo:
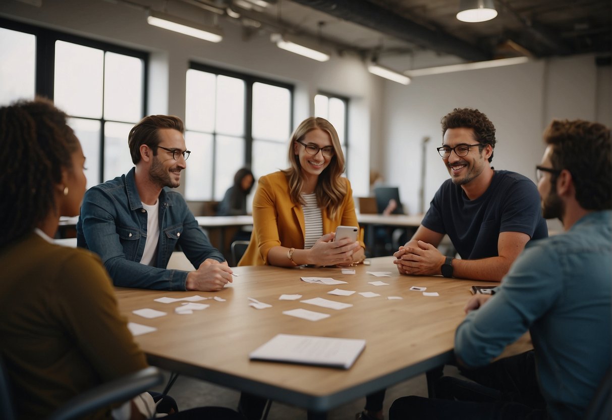
<svg viewBox="0 0 612 420"><path fill-rule="evenodd" d="M248 356L253 360L349 369L364 347L365 340L278 334Z"/></svg>

